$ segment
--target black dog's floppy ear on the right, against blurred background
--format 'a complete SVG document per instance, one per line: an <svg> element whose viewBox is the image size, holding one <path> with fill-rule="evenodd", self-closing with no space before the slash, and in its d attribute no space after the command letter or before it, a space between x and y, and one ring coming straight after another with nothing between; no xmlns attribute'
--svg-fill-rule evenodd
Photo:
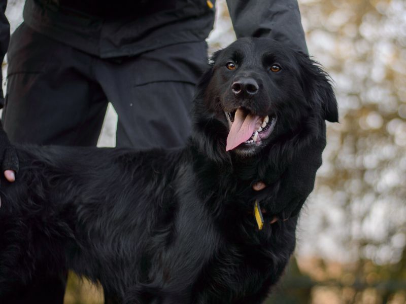
<svg viewBox="0 0 406 304"><path fill-rule="evenodd" d="M329 75L320 67L319 63L311 60L308 55L300 54L299 63L303 91L310 95L307 97L311 102L321 106L325 120L332 123L339 122L339 109Z"/></svg>

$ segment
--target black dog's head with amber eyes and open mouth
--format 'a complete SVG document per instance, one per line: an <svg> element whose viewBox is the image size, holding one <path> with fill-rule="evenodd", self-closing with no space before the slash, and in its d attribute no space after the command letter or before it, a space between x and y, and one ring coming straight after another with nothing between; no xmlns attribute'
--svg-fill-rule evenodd
<svg viewBox="0 0 406 304"><path fill-rule="evenodd" d="M194 131L205 133L199 144L213 159L254 156L303 128L317 133L320 120L338 120L328 75L272 39L240 39L216 52L198 84Z"/></svg>

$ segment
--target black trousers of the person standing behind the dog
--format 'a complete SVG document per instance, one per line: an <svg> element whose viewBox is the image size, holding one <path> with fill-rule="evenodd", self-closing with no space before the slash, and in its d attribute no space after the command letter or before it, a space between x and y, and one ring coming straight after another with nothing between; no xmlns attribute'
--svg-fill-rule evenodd
<svg viewBox="0 0 406 304"><path fill-rule="evenodd" d="M11 141L94 146L110 101L117 146L176 147L190 134L194 86L207 64L206 42L137 57L101 59L22 24L12 35L3 125ZM18 176L17 176L18 179ZM66 272L38 265L7 302L63 303Z"/></svg>

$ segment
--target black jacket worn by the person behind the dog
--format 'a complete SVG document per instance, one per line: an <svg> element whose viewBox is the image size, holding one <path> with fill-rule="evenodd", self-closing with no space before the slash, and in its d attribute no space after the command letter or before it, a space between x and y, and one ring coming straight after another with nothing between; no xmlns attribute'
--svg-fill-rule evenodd
<svg viewBox="0 0 406 304"><path fill-rule="evenodd" d="M7 0L0 1L3 59L10 27L4 15ZM215 0L26 0L23 17L28 26L52 39L112 58L205 40L213 28L214 4ZM237 37L269 36L307 52L296 0L227 0L227 5Z"/></svg>

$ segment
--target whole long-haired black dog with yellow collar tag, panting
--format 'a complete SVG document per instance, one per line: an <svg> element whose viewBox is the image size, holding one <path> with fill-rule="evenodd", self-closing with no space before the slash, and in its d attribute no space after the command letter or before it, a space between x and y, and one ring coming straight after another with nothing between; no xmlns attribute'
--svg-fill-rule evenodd
<svg viewBox="0 0 406 304"><path fill-rule="evenodd" d="M66 269L110 303L263 301L295 247L334 93L269 39L217 52L197 89L182 149L17 147L17 181L0 188L1 303Z"/></svg>

